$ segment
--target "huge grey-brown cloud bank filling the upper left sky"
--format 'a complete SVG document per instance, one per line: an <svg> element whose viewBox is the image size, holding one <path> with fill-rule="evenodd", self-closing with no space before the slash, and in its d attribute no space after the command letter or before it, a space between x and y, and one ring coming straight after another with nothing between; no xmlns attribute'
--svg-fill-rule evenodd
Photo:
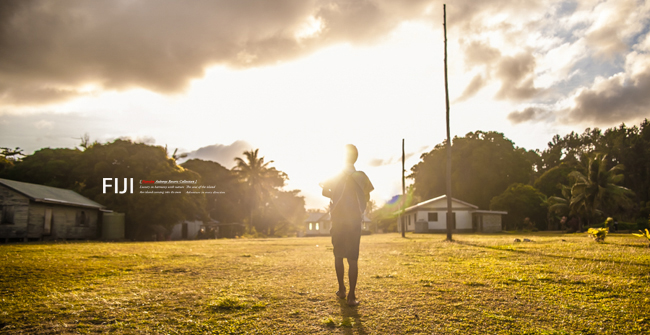
<svg viewBox="0 0 650 335"><path fill-rule="evenodd" d="M273 64L337 42L367 43L430 0L0 2L0 102L37 104L80 87L182 91L206 67ZM297 34L320 20L322 31Z"/></svg>

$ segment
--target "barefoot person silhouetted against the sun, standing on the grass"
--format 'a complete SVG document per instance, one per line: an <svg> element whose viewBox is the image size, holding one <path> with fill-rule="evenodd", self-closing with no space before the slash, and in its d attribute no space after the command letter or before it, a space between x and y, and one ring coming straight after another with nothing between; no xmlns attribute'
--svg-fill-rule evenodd
<svg viewBox="0 0 650 335"><path fill-rule="evenodd" d="M332 218L332 245L334 246L334 265L339 290L336 295L346 298L343 281L345 266L343 258L348 259L348 278L350 292L347 294L348 305L356 306L357 276L359 267L359 242L361 241L361 224L366 204L370 200L370 191L374 189L365 173L357 171L354 163L359 155L357 147L352 144L345 146L345 168L336 177L324 182L323 195L330 198L330 215Z"/></svg>

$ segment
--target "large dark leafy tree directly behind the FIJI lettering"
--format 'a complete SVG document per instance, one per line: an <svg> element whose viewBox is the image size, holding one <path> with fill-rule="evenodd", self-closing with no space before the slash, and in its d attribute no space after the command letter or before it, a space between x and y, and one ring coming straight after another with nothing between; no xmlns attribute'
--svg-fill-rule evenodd
<svg viewBox="0 0 650 335"><path fill-rule="evenodd" d="M152 226L168 231L182 220L205 220L205 196L201 194L145 194L137 189L140 180L199 180L193 171L178 166L164 147L115 140L95 144L83 152L73 172L83 181L83 194L118 212L124 212L127 236L143 238ZM83 178L82 178L83 176ZM103 178L118 178L120 191L124 178L133 178L133 194L103 193ZM111 184L114 184L112 182Z"/></svg>

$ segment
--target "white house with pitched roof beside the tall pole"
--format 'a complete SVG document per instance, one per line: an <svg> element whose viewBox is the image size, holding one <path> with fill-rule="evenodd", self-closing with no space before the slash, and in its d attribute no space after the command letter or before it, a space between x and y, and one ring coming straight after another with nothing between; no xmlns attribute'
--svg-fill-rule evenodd
<svg viewBox="0 0 650 335"><path fill-rule="evenodd" d="M501 218L508 212L479 210L478 206L451 198L454 233L495 233L502 230ZM406 231L444 233L447 231L447 196L423 201L404 210ZM398 219L399 220L399 219ZM397 224L398 231L402 231Z"/></svg>

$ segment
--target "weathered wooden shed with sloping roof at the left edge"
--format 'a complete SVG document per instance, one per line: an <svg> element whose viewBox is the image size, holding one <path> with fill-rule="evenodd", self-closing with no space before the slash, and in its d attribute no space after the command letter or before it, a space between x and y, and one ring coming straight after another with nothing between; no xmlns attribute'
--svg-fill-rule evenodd
<svg viewBox="0 0 650 335"><path fill-rule="evenodd" d="M0 239L95 239L104 208L72 190L0 179Z"/></svg>

